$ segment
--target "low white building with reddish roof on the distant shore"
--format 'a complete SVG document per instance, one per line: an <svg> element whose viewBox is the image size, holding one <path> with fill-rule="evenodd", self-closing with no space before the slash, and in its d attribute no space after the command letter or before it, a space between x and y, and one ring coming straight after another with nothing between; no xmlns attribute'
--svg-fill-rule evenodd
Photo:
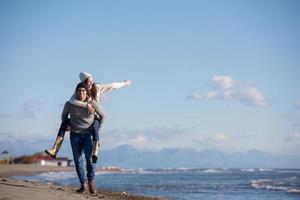
<svg viewBox="0 0 300 200"><path fill-rule="evenodd" d="M49 156L36 156L33 158L33 163L39 164L42 166L62 166L67 167L70 166L71 160L67 157L58 157L58 158L51 158Z"/></svg>

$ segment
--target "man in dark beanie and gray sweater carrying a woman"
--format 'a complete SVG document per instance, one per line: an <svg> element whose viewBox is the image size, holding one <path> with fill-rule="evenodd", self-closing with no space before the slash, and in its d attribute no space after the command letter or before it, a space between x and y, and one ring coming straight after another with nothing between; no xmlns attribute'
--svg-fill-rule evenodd
<svg viewBox="0 0 300 200"><path fill-rule="evenodd" d="M80 102L88 102L89 88L84 83L79 83L76 87L76 99ZM100 118L99 126L101 127L104 120L104 111L101 105L95 100L89 102L94 111ZM90 193L97 192L95 183L93 181L95 176L95 168L92 163L92 133L91 126L94 122L95 113L88 113L85 108L66 102L63 112L62 121L68 119L70 115L69 123L71 127L70 141L72 146L73 158L77 176L81 187L77 190L79 193L83 193L87 190L86 181L88 180ZM84 172L84 159L82 153L85 154L85 163L87 170L87 179Z"/></svg>

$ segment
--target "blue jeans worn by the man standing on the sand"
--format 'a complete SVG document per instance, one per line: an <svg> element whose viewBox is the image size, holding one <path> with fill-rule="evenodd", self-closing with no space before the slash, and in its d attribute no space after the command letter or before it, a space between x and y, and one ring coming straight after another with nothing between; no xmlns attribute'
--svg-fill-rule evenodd
<svg viewBox="0 0 300 200"><path fill-rule="evenodd" d="M95 177L95 166L92 163L93 145L91 134L78 134L71 132L70 141L72 146L75 168L80 183L86 182L86 176L89 180L93 180ZM84 172L84 159L82 154L83 152L86 161L86 176Z"/></svg>

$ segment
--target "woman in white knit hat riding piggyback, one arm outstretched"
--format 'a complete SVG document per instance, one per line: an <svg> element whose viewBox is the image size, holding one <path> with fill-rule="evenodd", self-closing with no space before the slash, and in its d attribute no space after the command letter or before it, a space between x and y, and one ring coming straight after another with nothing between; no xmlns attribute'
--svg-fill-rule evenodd
<svg viewBox="0 0 300 200"><path fill-rule="evenodd" d="M82 83L85 83L88 86L88 90L91 93L91 99L90 100L95 100L96 102L100 102L100 96L105 93L109 92L115 89L119 89L125 86L129 86L131 84L130 80L125 80L123 82L115 82L111 84L98 84L94 83L92 75L87 73L87 72L81 72L79 74L80 81ZM73 105L86 108L88 113L92 113L94 108L91 103L87 102L82 102L78 101L76 98L76 93L73 94L69 102ZM58 131L55 143L51 149L46 149L45 152L46 154L50 155L51 157L56 157L56 154L58 153L61 144L64 139L65 131L68 127L69 120L66 119L65 121L62 122L60 129ZM93 135L93 163L97 162L98 159L98 151L99 151L99 118L96 116L95 121L93 123L93 128L92 128L92 135Z"/></svg>

